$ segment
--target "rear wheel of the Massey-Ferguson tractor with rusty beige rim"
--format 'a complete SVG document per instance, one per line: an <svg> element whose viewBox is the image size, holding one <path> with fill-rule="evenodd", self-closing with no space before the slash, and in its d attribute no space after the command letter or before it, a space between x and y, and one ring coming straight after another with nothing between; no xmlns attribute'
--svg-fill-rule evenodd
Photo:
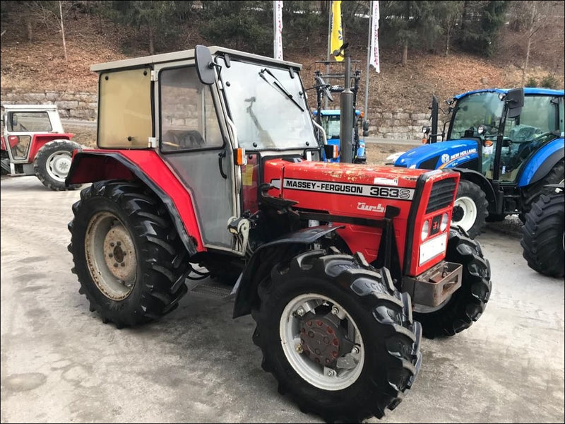
<svg viewBox="0 0 565 424"><path fill-rule="evenodd" d="M168 314L186 294L186 249L165 206L141 184L100 181L69 223L79 293L118 328Z"/></svg>

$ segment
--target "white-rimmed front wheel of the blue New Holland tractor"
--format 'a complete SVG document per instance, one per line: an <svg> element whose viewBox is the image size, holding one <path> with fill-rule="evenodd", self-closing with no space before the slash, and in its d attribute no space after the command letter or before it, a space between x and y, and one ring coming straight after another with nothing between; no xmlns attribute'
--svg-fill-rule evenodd
<svg viewBox="0 0 565 424"><path fill-rule="evenodd" d="M473 182L461 179L451 213L451 225L463 228L470 238L475 238L487 225L488 207L489 202L482 189Z"/></svg>

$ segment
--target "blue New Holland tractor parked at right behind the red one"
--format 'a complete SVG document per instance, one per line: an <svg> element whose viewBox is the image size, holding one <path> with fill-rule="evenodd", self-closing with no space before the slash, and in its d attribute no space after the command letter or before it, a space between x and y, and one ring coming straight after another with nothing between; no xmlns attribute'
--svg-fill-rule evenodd
<svg viewBox="0 0 565 424"><path fill-rule="evenodd" d="M458 170L452 225L470 237L486 221L512 214L524 220L545 186L564 182L563 100L564 90L545 88L470 91L448 100L451 117L437 134L434 96L427 143L398 155L393 165ZM436 142L439 136L446 141Z"/></svg>

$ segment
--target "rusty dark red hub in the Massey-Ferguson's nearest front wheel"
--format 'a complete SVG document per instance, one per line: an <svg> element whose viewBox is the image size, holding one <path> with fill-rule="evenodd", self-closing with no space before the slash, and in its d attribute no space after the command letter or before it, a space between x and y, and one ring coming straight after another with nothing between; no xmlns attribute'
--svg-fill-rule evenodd
<svg viewBox="0 0 565 424"><path fill-rule="evenodd" d="M315 363L326 367L335 365L343 351L345 335L340 320L333 314L309 312L300 322L300 341L304 353Z"/></svg>

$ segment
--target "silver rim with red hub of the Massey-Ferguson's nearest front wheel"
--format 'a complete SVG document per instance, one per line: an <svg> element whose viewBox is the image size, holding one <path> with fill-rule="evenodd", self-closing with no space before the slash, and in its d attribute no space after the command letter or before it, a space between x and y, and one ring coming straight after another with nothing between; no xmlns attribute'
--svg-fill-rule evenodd
<svg viewBox="0 0 565 424"><path fill-rule="evenodd" d="M280 343L298 375L319 389L345 389L361 375L365 350L357 324L326 296L307 293L287 303Z"/></svg>

